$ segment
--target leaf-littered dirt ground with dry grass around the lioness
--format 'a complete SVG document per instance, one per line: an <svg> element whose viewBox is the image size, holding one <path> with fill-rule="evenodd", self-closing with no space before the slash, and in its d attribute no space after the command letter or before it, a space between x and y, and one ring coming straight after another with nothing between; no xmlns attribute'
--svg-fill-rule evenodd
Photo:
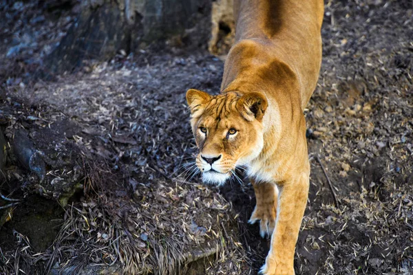
<svg viewBox="0 0 413 275"><path fill-rule="evenodd" d="M43 30L60 37L75 12L33 28L60 22L59 34ZM223 61L157 45L25 82L49 44L8 54L19 20L0 33L0 126L9 144L25 129L52 161L39 184L10 153L0 190L23 201L0 209L0 273L256 274L269 241L246 222L248 179L218 190L185 170L196 153L185 91L217 94ZM296 273L413 274L413 3L328 1L322 36ZM74 192L51 184L70 182L68 166L81 167Z"/></svg>

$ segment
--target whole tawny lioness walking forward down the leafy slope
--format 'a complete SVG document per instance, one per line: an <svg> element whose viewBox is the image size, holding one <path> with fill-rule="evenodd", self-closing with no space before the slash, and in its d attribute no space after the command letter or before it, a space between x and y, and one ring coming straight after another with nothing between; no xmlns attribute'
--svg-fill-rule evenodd
<svg viewBox="0 0 413 275"><path fill-rule="evenodd" d="M235 0L235 44L221 94L189 89L196 164L223 184L246 166L257 198L250 223L272 234L262 274L294 274L310 164L304 107L321 65L321 0Z"/></svg>

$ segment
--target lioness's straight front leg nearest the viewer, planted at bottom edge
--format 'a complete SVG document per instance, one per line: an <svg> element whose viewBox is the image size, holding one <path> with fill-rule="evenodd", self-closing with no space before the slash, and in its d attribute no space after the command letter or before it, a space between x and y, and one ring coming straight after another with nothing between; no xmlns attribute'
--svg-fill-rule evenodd
<svg viewBox="0 0 413 275"><path fill-rule="evenodd" d="M260 271L261 274L295 274L295 244L306 209L308 186L308 173L302 173L295 180L286 181L279 186L277 224L271 237L271 249Z"/></svg>

